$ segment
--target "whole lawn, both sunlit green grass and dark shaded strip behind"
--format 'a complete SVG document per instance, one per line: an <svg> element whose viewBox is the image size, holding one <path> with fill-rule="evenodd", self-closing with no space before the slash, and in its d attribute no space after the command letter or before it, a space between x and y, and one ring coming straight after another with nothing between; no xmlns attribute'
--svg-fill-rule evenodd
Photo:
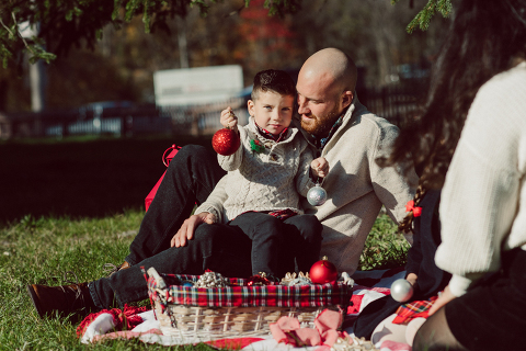
<svg viewBox="0 0 526 351"><path fill-rule="evenodd" d="M164 170L161 155L173 143L184 144L167 138L0 144L0 350L167 350L123 340L83 346L76 337L78 322L38 318L25 286L67 284L75 281L64 276L68 271L79 282L90 281L105 275L104 263L121 263L142 219L144 197ZM359 269L403 264L407 249L392 222L380 215Z"/></svg>

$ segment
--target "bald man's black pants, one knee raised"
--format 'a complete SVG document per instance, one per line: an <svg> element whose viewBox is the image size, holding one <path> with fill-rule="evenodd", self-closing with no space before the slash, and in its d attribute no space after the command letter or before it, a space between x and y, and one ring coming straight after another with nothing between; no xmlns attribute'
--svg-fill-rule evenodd
<svg viewBox="0 0 526 351"><path fill-rule="evenodd" d="M90 293L100 308L121 306L148 298L140 267L153 267L159 273L202 274L209 268L227 276L250 275L250 239L203 238L198 235L186 247L170 248L170 240L195 203L203 203L226 172L217 156L201 146L183 147L170 162L164 179L129 247L126 261L132 264L111 278L90 282ZM242 252L247 252L245 256Z"/></svg>

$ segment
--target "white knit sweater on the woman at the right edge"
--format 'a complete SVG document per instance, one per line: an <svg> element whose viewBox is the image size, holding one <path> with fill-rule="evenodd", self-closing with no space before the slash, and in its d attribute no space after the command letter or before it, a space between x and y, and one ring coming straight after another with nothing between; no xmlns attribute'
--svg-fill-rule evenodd
<svg viewBox="0 0 526 351"><path fill-rule="evenodd" d="M501 251L526 250L526 63L478 91L446 176L436 264L461 296L500 268Z"/></svg>

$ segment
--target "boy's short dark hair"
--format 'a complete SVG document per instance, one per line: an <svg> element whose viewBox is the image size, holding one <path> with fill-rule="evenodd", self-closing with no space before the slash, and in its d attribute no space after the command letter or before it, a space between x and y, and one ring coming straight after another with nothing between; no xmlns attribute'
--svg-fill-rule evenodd
<svg viewBox="0 0 526 351"><path fill-rule="evenodd" d="M286 71L266 69L258 72L254 77L251 94L253 101L258 99L260 91L274 91L281 95L296 97L296 84Z"/></svg>

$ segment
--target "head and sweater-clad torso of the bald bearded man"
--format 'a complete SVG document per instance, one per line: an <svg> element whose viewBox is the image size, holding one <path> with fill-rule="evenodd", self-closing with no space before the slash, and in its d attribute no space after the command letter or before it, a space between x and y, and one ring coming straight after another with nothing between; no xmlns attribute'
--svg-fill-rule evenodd
<svg viewBox="0 0 526 351"><path fill-rule="evenodd" d="M418 183L412 168L405 178L399 169L377 165L399 131L359 103L356 78L353 60L327 48L307 59L296 86L305 136L330 166L323 180L329 200L319 207L302 205L323 225L321 254L350 274L381 206L396 223L402 220Z"/></svg>

